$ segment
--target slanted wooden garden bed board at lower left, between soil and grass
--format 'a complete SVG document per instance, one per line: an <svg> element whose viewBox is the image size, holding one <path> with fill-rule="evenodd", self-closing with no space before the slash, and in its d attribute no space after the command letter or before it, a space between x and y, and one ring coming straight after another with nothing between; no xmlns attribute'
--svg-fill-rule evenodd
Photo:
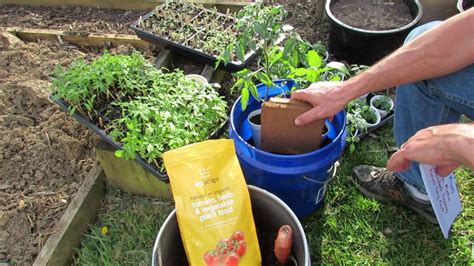
<svg viewBox="0 0 474 266"><path fill-rule="evenodd" d="M56 224L33 265L68 265L79 246L82 234L89 229L102 205L105 178L100 167L86 177L71 203Z"/></svg>

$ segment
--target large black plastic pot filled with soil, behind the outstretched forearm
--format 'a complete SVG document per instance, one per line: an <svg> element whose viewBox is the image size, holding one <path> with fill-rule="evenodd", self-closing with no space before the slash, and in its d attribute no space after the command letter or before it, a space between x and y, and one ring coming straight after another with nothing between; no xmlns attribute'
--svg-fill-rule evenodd
<svg viewBox="0 0 474 266"><path fill-rule="evenodd" d="M365 30L337 19L331 10L337 1L339 0L327 0L325 7L330 20L329 51L338 60L345 60L351 64L372 65L400 47L423 15L423 8L418 0L405 0L414 17L412 22L393 30Z"/></svg>

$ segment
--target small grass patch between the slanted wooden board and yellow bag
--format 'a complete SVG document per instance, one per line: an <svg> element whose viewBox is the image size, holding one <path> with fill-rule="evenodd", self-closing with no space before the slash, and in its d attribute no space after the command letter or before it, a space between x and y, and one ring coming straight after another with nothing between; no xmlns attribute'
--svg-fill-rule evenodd
<svg viewBox="0 0 474 266"><path fill-rule="evenodd" d="M173 206L109 187L98 221L83 238L74 264L150 265L155 238Z"/></svg>

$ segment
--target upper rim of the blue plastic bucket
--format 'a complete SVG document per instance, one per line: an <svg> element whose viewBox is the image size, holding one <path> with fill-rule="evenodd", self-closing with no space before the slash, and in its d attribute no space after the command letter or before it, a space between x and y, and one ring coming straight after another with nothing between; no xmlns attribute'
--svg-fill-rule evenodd
<svg viewBox="0 0 474 266"><path fill-rule="evenodd" d="M273 82L274 83L282 83L282 82L285 82L285 81L294 81L293 79L277 79L277 80L274 80ZM265 84L263 83L260 83L257 85L257 88L259 87L262 87L262 86L265 86ZM275 153L271 153L271 152L267 152L267 151L264 151L264 150L260 150L260 149L257 149L256 147L248 144L241 136L240 134L237 133L237 130L235 128L235 125L234 125L234 111L235 111L235 108L238 104L240 104L240 100L241 100L241 96L239 96L239 98L237 98L237 100L234 102L234 104L232 105L232 109L230 111L230 128L232 131L235 132L235 135L237 136L238 140L240 142L242 142L248 149L251 149L252 151L254 152L257 152L261 155L265 155L265 156L269 156L269 157L273 157L273 158L277 158L277 159L306 159L308 157L312 157L313 155L316 155L320 152L324 152L324 151L327 151L329 150L330 148L332 147L335 147L337 146L337 143L336 143L336 139L339 139L339 138L342 138L343 137L343 134L344 134L344 131L346 130L346 113L345 113L345 110L341 110L339 111L336 115L338 114L341 114L342 115L342 122L343 122L343 126L342 126L342 129L340 130L340 132L336 135L336 138L334 138L334 141L332 141L331 143L329 143L328 145L320 148L320 149L317 149L317 150L314 150L312 152L308 152L308 153L303 153L303 154L275 154ZM336 116L335 115L335 116Z"/></svg>

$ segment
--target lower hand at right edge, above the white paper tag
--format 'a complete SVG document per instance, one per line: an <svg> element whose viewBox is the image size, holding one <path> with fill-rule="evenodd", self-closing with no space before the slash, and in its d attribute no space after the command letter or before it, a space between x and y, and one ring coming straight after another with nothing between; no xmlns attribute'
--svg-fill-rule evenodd
<svg viewBox="0 0 474 266"><path fill-rule="evenodd" d="M420 130L390 157L387 169L402 172L410 167L411 161L415 161L435 165L440 176L447 176L461 164L470 166L464 155L473 148L473 131L473 126L468 124L448 124Z"/></svg>

